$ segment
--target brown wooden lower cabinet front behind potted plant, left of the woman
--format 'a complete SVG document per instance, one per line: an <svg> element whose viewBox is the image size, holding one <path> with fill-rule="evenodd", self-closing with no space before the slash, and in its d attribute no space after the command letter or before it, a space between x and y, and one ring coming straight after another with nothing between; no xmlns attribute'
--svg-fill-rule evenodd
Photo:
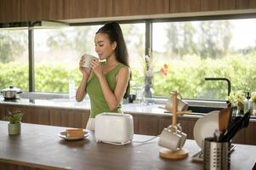
<svg viewBox="0 0 256 170"><path fill-rule="evenodd" d="M53 125L60 127L85 128L88 122L89 111L78 109L60 109L53 107L28 105L0 105L0 120L9 111L24 111L22 122Z"/></svg>

